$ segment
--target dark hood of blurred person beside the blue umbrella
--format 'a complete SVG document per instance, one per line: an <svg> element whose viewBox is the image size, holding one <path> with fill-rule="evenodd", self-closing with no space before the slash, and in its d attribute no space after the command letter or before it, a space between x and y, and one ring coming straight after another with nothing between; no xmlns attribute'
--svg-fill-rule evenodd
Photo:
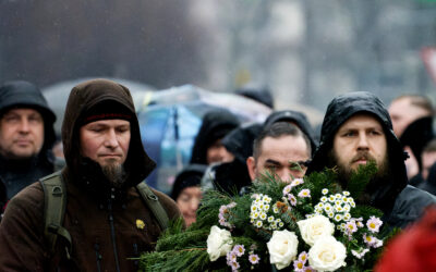
<svg viewBox="0 0 436 272"><path fill-rule="evenodd" d="M208 164L207 149L239 125L238 118L227 110L214 110L203 118L202 126L195 137L191 164Z"/></svg>

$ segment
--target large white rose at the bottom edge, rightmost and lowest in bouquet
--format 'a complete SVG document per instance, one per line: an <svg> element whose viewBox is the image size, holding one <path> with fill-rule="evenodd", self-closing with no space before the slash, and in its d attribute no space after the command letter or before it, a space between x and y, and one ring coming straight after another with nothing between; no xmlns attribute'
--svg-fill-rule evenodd
<svg viewBox="0 0 436 272"><path fill-rule="evenodd" d="M347 249L334 236L319 237L308 250L308 263L317 271L335 271L346 265Z"/></svg>

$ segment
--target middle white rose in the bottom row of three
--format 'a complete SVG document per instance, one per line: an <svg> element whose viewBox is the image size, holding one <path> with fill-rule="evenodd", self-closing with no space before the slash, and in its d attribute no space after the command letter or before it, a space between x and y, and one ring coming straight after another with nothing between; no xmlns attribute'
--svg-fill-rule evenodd
<svg viewBox="0 0 436 272"><path fill-rule="evenodd" d="M276 264L277 269L288 267L295 260L299 239L295 233L274 231L271 239L266 244L269 251L269 262Z"/></svg>

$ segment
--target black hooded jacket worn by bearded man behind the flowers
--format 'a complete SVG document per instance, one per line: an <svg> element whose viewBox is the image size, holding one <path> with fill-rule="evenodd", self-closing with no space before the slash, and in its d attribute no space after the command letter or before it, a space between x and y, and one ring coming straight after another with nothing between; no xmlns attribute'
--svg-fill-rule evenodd
<svg viewBox="0 0 436 272"><path fill-rule="evenodd" d="M371 205L385 212L384 219L389 225L404 227L419 219L426 206L436 203L436 198L407 185L404 165L407 154L393 134L385 104L375 95L366 91L349 92L336 97L329 103L323 122L319 147L306 174L323 171L327 166L337 131L356 113L368 113L376 118L383 126L388 144L391 178L379 184L373 191L368 191L372 196Z"/></svg>

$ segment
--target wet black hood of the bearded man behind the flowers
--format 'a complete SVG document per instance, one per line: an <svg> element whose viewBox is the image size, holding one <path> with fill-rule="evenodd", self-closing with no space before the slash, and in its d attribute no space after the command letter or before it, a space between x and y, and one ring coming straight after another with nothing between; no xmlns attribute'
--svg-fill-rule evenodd
<svg viewBox="0 0 436 272"><path fill-rule="evenodd" d="M372 191L372 203L382 210L389 210L397 196L407 186L404 160L407 153L392 131L392 123L385 104L367 91L348 92L336 97L327 107L324 118L320 143L308 165L306 175L323 171L328 163L328 153L339 127L356 113L368 113L376 118L383 126L388 146L388 159L391 177Z"/></svg>

